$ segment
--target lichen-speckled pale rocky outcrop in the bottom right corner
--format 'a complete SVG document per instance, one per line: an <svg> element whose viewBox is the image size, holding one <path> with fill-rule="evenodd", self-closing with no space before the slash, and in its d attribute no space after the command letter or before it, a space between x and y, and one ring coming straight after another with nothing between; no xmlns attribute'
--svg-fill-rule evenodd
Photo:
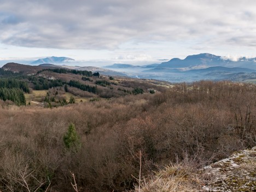
<svg viewBox="0 0 256 192"><path fill-rule="evenodd" d="M212 181L203 191L256 191L256 147L232 154L205 167Z"/></svg>

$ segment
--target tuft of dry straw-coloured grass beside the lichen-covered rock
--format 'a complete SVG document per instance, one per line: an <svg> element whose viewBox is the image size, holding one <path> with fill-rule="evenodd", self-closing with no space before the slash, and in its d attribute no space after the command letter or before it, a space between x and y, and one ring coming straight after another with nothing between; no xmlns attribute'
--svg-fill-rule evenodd
<svg viewBox="0 0 256 192"><path fill-rule="evenodd" d="M205 183L205 172L193 161L170 163L153 176L144 178L133 192L196 192Z"/></svg>

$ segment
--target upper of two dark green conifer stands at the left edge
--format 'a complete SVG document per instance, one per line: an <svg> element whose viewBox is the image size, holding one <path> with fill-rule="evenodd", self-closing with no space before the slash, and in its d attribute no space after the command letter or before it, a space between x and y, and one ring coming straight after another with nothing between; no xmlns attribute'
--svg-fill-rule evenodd
<svg viewBox="0 0 256 192"><path fill-rule="evenodd" d="M30 89L28 88L27 82L24 82L22 80L18 79L0 79L0 88L16 88L16 89L21 89L24 92L30 92Z"/></svg>

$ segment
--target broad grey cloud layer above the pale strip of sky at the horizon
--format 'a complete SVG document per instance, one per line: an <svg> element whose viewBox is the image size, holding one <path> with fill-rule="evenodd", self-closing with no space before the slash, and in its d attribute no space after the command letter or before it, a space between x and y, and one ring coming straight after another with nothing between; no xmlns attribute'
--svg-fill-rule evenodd
<svg viewBox="0 0 256 192"><path fill-rule="evenodd" d="M255 7L249 0L0 0L0 10L10 13L0 14L0 42L61 49L116 49L155 40L252 46ZM236 40L242 34L249 35Z"/></svg>

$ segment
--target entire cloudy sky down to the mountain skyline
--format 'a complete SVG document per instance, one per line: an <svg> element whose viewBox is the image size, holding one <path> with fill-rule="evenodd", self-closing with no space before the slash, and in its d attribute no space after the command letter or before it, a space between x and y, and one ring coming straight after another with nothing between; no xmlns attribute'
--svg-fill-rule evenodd
<svg viewBox="0 0 256 192"><path fill-rule="evenodd" d="M256 1L0 0L0 63L143 65L199 53L256 57Z"/></svg>

